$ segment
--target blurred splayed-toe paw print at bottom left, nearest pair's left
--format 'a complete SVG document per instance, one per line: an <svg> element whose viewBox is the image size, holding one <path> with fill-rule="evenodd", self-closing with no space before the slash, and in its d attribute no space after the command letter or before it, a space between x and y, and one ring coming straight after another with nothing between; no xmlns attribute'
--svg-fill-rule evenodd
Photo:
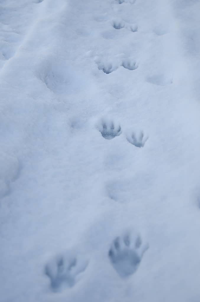
<svg viewBox="0 0 200 302"><path fill-rule="evenodd" d="M44 271L50 279L51 290L61 291L73 287L87 266L86 260L77 259L76 256L66 253L49 261Z"/></svg>

